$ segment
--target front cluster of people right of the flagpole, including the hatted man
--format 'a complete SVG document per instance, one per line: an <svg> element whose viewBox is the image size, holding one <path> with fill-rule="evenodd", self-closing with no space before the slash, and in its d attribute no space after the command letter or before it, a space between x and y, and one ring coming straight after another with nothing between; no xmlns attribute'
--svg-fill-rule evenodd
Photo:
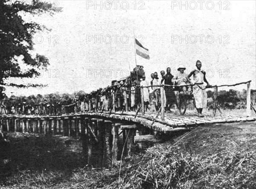
<svg viewBox="0 0 256 189"><path fill-rule="evenodd" d="M165 71L161 71L161 79L158 77L157 72L151 74L151 82L149 83L145 80L145 75L140 82L140 86L143 86L144 102L147 105L150 102L150 93L153 93L154 100L156 104L156 110L161 106L160 101L160 86L164 84L164 99L165 99L165 111L171 112L171 107L173 104L178 106L179 94L191 95L193 91L193 99L195 100L195 106L198 111L198 117L203 117L202 110L207 106L207 93L206 86L204 82L207 83L209 87L209 82L206 79L206 72L201 70L202 63L200 60L196 62L196 69L192 72L186 74L184 71L186 67L184 65L179 65L178 73L175 75L171 74L171 69L168 67ZM193 80L191 77L193 76ZM148 88L147 86L151 86ZM177 89L178 88L178 89Z"/></svg>

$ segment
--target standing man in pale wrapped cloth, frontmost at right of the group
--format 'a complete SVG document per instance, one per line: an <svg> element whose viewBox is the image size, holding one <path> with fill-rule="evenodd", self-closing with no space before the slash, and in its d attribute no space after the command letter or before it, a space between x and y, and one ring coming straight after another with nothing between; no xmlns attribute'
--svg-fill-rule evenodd
<svg viewBox="0 0 256 189"><path fill-rule="evenodd" d="M204 115L202 115L202 111L203 111L203 108L206 108L207 106L207 93L205 91L206 87L204 86L204 82L207 83L207 86L210 86L210 85L205 77L206 73L203 70L201 71L202 63L200 62L200 60L196 62L195 66L196 66L196 69L190 72L190 74L187 77L187 80L192 85L195 84L193 86L195 107L198 111L198 117L204 117ZM190 77L192 75L194 77L194 82L190 80Z"/></svg>

